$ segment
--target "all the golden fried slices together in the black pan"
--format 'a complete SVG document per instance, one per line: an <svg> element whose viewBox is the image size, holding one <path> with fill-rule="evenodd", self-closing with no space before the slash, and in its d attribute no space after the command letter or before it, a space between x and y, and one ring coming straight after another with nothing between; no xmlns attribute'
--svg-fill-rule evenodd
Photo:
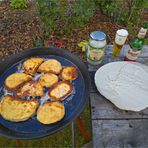
<svg viewBox="0 0 148 148"><path fill-rule="evenodd" d="M56 59L30 58L22 64L24 72L16 72L5 80L5 89L14 95L4 95L0 102L0 114L12 122L25 121L37 114L42 124L60 121L65 107L60 102L73 91L71 80L78 77L74 66L63 67ZM41 73L37 80L36 74ZM39 105L38 97L45 96L48 89L49 101ZM31 99L22 99L30 97Z"/></svg>

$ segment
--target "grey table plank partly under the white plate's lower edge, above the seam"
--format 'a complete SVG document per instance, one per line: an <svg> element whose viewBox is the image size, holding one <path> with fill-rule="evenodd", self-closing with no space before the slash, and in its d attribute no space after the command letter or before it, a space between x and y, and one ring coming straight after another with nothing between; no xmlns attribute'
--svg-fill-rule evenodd
<svg viewBox="0 0 148 148"><path fill-rule="evenodd" d="M148 108L140 112L124 111L98 93L90 94L92 119L144 119L148 118Z"/></svg>

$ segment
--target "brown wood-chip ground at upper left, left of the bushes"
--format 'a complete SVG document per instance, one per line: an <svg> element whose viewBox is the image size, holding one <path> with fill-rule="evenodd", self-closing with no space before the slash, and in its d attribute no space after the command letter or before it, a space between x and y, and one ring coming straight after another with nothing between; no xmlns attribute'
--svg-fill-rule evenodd
<svg viewBox="0 0 148 148"><path fill-rule="evenodd" d="M33 5L27 9L13 10L9 3L0 2L0 57L33 47L38 26Z"/></svg>

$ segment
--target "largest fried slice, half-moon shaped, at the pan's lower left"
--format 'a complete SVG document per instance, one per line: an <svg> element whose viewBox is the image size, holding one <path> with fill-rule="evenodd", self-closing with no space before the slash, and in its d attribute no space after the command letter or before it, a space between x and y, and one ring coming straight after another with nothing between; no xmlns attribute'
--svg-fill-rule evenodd
<svg viewBox="0 0 148 148"><path fill-rule="evenodd" d="M19 100L13 96L6 95L1 103L1 115L6 120L20 122L32 117L37 108L38 101L36 99Z"/></svg>

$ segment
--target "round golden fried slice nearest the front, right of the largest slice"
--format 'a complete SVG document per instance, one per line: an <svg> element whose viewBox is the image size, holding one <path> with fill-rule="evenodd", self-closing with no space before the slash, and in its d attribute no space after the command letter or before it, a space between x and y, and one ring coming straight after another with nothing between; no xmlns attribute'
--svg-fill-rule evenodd
<svg viewBox="0 0 148 148"><path fill-rule="evenodd" d="M37 111L37 120L43 124L60 121L65 115L65 108L60 102L44 103Z"/></svg>

